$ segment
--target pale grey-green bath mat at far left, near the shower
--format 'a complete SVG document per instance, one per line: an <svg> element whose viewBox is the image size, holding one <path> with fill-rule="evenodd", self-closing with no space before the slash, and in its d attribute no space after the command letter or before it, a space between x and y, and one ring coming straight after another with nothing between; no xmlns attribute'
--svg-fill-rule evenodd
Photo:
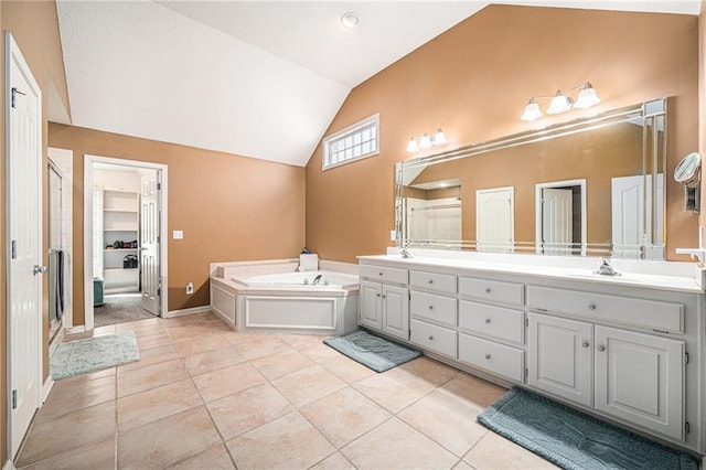
<svg viewBox="0 0 706 470"><path fill-rule="evenodd" d="M139 360L135 332L120 331L60 344L50 360L50 371L58 381Z"/></svg>

